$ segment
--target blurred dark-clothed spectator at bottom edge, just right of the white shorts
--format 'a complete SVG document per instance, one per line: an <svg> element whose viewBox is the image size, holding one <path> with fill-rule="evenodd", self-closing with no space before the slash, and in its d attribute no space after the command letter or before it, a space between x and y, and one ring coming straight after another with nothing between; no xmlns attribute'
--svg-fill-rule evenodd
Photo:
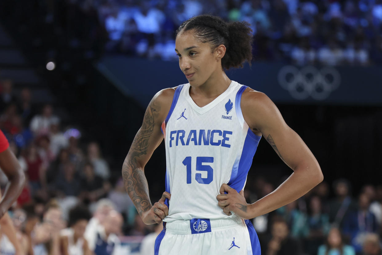
<svg viewBox="0 0 382 255"><path fill-rule="evenodd" d="M261 254L289 255L291 251L295 255L301 255L301 245L298 240L289 235L286 221L276 216L272 220L271 235L261 242Z"/></svg>

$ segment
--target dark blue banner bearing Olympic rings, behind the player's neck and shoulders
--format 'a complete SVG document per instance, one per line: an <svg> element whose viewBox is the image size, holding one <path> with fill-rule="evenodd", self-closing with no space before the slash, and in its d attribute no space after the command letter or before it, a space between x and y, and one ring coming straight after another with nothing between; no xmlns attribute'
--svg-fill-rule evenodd
<svg viewBox="0 0 382 255"><path fill-rule="evenodd" d="M96 67L145 107L158 89L187 82L173 62L151 60L149 65L147 69L147 60L141 58L106 55ZM232 80L264 92L276 103L368 106L382 105L381 74L382 67L298 67L264 61L227 72Z"/></svg>

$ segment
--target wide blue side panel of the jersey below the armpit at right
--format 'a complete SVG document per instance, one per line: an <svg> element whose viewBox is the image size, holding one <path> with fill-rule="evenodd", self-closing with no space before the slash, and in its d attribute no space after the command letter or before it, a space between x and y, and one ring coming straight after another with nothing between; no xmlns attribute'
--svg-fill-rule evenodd
<svg viewBox="0 0 382 255"><path fill-rule="evenodd" d="M237 192L240 192L244 188L249 168L252 165L253 156L255 155L257 145L261 138L261 136L254 135L251 129L248 128L239 164L234 164L232 167L231 178L228 185ZM254 139L254 137L256 139Z"/></svg>

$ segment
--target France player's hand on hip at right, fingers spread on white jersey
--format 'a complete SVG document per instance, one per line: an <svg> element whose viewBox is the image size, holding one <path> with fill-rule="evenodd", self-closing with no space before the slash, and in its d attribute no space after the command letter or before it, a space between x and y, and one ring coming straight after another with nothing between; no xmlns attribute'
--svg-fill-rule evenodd
<svg viewBox="0 0 382 255"><path fill-rule="evenodd" d="M222 187L220 187L220 195L217 195L216 198L219 201L219 207L223 209L225 214L231 215L231 212L234 212L243 219L253 218L250 215L251 205L247 204L243 195L239 194L234 188L231 188L227 184L223 184Z"/></svg>

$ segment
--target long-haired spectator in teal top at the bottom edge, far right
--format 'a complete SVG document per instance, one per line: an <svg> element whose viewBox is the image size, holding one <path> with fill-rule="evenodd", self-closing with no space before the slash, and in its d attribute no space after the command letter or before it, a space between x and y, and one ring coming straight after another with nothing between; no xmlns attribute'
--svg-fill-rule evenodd
<svg viewBox="0 0 382 255"><path fill-rule="evenodd" d="M317 255L355 255L353 247L343 242L341 232L337 227L330 229L325 244L318 249Z"/></svg>

